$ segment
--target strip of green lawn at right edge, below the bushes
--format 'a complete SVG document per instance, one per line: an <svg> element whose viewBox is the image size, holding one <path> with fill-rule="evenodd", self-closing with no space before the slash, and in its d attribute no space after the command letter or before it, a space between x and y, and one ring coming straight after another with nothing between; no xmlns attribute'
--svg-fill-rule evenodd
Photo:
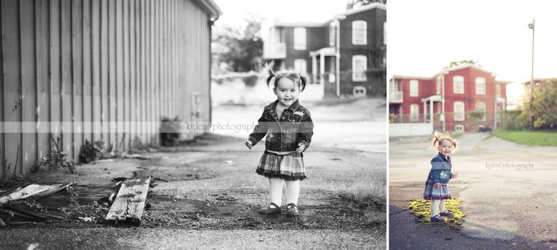
<svg viewBox="0 0 557 250"><path fill-rule="evenodd" d="M499 131L494 135L517 144L557 146L557 131Z"/></svg>

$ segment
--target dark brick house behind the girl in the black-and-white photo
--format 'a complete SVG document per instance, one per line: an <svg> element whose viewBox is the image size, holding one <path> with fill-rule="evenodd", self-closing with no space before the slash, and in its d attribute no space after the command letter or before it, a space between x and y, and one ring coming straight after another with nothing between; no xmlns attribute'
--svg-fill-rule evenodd
<svg viewBox="0 0 557 250"><path fill-rule="evenodd" d="M386 6L370 3L323 23L274 22L263 35L263 60L307 74L322 97L386 94Z"/></svg>

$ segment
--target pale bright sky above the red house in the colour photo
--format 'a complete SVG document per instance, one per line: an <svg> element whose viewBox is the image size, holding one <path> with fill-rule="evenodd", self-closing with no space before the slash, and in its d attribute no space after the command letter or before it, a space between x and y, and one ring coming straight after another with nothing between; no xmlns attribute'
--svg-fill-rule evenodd
<svg viewBox="0 0 557 250"><path fill-rule="evenodd" d="M508 95L521 95L518 82L531 76L535 18L534 77L557 77L557 1L389 0L388 74L433 76L451 61L476 60L512 81Z"/></svg>

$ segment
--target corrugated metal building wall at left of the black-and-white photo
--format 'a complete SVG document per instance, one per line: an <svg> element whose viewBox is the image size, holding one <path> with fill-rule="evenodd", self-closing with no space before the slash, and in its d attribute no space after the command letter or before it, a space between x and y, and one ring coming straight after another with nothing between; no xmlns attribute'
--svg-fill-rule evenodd
<svg viewBox="0 0 557 250"><path fill-rule="evenodd" d="M49 131L77 160L85 140L157 144L162 116L210 121L209 15L192 1L1 0L0 15L0 176L46 156Z"/></svg>

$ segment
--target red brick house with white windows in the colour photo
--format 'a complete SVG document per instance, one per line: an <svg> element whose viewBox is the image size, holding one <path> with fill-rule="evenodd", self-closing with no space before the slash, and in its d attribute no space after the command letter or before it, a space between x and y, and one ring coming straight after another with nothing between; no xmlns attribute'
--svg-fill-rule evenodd
<svg viewBox="0 0 557 250"><path fill-rule="evenodd" d="M477 65L446 68L431 77L395 75L389 81L391 122L427 124L433 119L434 130L455 132L499 127L510 82L495 76Z"/></svg>

